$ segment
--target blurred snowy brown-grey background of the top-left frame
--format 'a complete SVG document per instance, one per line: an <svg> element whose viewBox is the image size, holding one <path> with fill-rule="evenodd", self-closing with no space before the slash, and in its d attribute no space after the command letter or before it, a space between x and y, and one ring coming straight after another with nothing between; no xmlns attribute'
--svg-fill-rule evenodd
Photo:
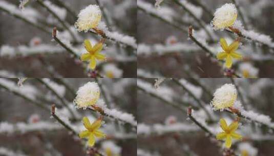
<svg viewBox="0 0 274 156"><path fill-rule="evenodd" d="M75 17L63 7L60 7L60 5L56 3L57 1L52 0L49 2L52 4L51 6L55 5L57 7L55 8L58 10L60 16L73 27L72 30L74 32ZM97 4L94 0L70 0L61 2L69 6L76 15L81 9L86 8L88 5ZM0 3L0 7L3 7L3 4L9 3L14 5L19 13L27 17L34 16L34 18L37 19L37 23L43 25L43 27L50 32L54 26L61 27L60 23L56 22L49 12L35 1L29 1L25 6L25 10L22 12L19 10L20 2L18 0L1 0ZM136 0L100 1L100 3L108 13L108 17L113 25L113 31L136 38ZM106 22L106 19L102 17L102 21ZM61 31L59 27L58 30ZM78 35L83 38L89 38L92 41L99 40L98 36L92 33L80 32ZM43 50L43 47L40 48L39 45L47 45L48 48ZM76 52L85 52L82 41L76 45ZM21 48L20 50L19 46L25 46L25 48ZM0 71L3 73L2 77L16 77L10 76L14 74L26 77L88 76L86 71L83 71L81 62L74 60L64 48L59 46L55 41L52 41L51 34L28 25L22 20L5 13L3 10L0 10L0 47ZM15 48L15 52L17 52L16 55L11 54L9 51L11 49L10 47ZM24 53L20 51L24 51ZM114 60L101 64L98 67L102 75L105 74L105 70L110 69L118 72L117 77L136 77L136 56L132 48L121 47L119 44L107 41L107 46L102 53L106 54L110 60ZM115 66L115 68L104 69L104 65L112 65L112 67Z"/></svg>

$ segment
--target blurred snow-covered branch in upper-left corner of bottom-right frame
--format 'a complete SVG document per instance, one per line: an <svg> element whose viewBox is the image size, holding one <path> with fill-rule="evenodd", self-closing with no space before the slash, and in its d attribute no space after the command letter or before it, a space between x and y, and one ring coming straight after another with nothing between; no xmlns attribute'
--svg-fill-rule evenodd
<svg viewBox="0 0 274 156"><path fill-rule="evenodd" d="M173 95L175 94L175 92L168 87L160 86L159 88L155 89L152 84L144 82L140 79L137 80L137 86L144 89L147 92L156 94L169 102L172 102Z"/></svg>

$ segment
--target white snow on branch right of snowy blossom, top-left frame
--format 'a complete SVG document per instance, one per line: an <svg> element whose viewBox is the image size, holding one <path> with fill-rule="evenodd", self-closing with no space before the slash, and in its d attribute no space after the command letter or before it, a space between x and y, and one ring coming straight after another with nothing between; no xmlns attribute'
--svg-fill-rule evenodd
<svg viewBox="0 0 274 156"><path fill-rule="evenodd" d="M120 34L119 32L116 32L116 31L111 32L109 31L109 29L107 28L104 22L100 22L97 28L103 31L104 34L106 34L106 36L111 38L112 40L123 43L125 45L132 46L133 48L137 48L136 39L134 37Z"/></svg>

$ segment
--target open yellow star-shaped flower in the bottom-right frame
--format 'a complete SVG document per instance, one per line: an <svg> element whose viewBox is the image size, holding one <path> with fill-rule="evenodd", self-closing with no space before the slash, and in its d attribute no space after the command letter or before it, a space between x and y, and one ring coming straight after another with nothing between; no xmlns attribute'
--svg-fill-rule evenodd
<svg viewBox="0 0 274 156"><path fill-rule="evenodd" d="M242 135L236 133L235 131L238 128L238 122L234 121L229 126L227 126L224 119L220 120L221 128L223 129L223 132L220 132L216 135L216 138L218 140L225 140L225 147L230 148L232 144L232 139L242 139Z"/></svg>

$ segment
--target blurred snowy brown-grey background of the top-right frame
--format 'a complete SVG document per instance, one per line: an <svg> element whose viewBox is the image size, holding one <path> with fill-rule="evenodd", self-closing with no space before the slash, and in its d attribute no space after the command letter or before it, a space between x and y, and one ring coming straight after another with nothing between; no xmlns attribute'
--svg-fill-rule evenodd
<svg viewBox="0 0 274 156"><path fill-rule="evenodd" d="M162 1L157 9L154 7L155 2L154 0L137 1L138 75L152 78L153 75L163 77L193 77L193 75L198 77L224 77L224 73L221 71L221 67L217 66L216 60L206 56L206 53L188 38L187 30L190 25L194 26L197 34L205 36L204 32L200 31L197 21L179 5L176 5L174 1ZM190 10L204 23L209 32L214 32L218 36L214 43L209 44L209 47L215 53L221 52L221 49L218 48L220 47L218 42L220 37L227 39L228 34L224 31L213 31L212 27L209 26L212 18L196 2L204 4L213 14L217 8L226 3L233 3L233 1L186 0L181 2L186 2ZM236 2L239 3L245 18L245 29L269 35L271 38L274 37L272 28L274 3L272 0ZM150 10L166 21L170 21L170 24L144 10ZM238 19L241 20L239 13ZM234 38L236 37L234 36ZM205 38L200 37L199 39L203 41ZM232 41L227 40L227 42ZM238 52L243 53L244 61L234 63L233 69L239 75L242 75L243 68L246 68L250 72L255 71L256 77L273 77L274 72L271 70L274 65L273 50L264 46L256 46L252 49L252 46L252 42L243 41L243 46ZM259 59L255 59L257 54L261 55ZM262 54L269 54L268 59L262 59ZM241 65L244 62L249 64L248 67L246 64ZM193 74L189 74L189 72Z"/></svg>

